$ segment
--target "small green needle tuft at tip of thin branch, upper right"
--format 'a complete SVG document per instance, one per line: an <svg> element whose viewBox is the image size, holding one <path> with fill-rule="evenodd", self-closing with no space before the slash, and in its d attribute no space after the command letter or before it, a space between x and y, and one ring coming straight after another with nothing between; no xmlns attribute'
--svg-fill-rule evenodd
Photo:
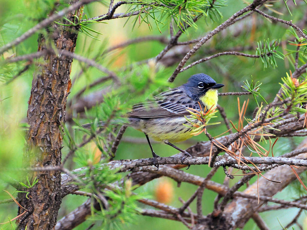
<svg viewBox="0 0 307 230"><path fill-rule="evenodd" d="M278 45L280 43L280 40L278 43L276 43L276 40L272 42L270 45L270 40L264 40L263 46L261 41L257 42L257 49L256 49L256 55L260 56L263 63L263 69L266 69L269 65L271 65L273 68L277 67L277 63L275 58L284 59L284 55L277 51Z"/></svg>

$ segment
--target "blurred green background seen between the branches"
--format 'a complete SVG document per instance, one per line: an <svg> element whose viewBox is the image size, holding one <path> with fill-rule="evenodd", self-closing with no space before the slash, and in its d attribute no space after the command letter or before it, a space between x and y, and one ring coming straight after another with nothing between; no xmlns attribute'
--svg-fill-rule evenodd
<svg viewBox="0 0 307 230"><path fill-rule="evenodd" d="M0 45L8 43L11 40L14 40L22 33L24 33L29 28L33 27L38 21L41 21L41 18L50 12L53 7L52 1L3 1L0 0ZM188 34L184 34L180 37L180 41L187 41L200 36L204 36L206 33L214 29L221 22L225 21L236 11L242 9L247 5L246 1L226 1L227 6L221 7L219 10L223 15L222 19L218 19L215 22L211 21L209 18L201 18L197 21L197 29L189 28ZM274 1L275 10L283 13L282 16L267 10L267 13L282 17L285 20L293 20L293 22L301 21L302 17L306 13L307 7L303 1L297 1L298 6L293 6L290 4L290 10L293 12L291 16L283 1ZM101 15L107 12L107 6L99 2L91 3L90 5L85 6L84 13L87 14L87 17L94 17ZM127 6L121 6L118 8L117 12L125 12ZM154 23L153 30L150 30L146 23L141 25L136 25L132 30L133 18L131 18L127 23L127 18L114 19L109 21L104 21L106 23L98 23L93 25L91 28L99 31L102 35L98 35L97 39L94 40L89 36L86 36L84 33L79 33L77 45L76 45L76 54L80 54L89 59L95 57L99 52L103 50L124 42L126 40L134 39L140 36L165 36L169 38L169 27L168 25L161 26L160 33L155 27ZM125 25L126 23L126 25ZM177 31L177 28L175 28ZM295 49L291 47L287 40L293 40L293 36L287 32L287 27L277 23L271 23L265 18L259 15L252 15L251 17L246 18L245 20L240 21L239 23L230 26L225 29L223 32L217 34L214 38L209 40L200 50L192 57L192 60L197 60L205 56L210 56L215 52L220 50L231 50L234 47L252 47L250 51L243 51L246 53L255 54L255 47L257 41L263 41L264 39L270 38L270 40L281 39L282 45L278 50L284 54L287 53L285 50ZM239 31L241 31L239 33ZM238 34L239 33L239 34ZM35 33L33 36L25 40L23 43L19 44L13 50L6 52L3 58L7 58L11 55L23 55L26 53L32 53L37 51L37 37L38 33ZM161 50L165 47L165 44L161 44L158 41L147 41L137 44L129 45L128 47L112 51L108 53L103 58L99 59L98 62L103 66L114 71L121 79L125 79L126 71L124 70L126 66L133 64L144 59L149 59L155 57ZM192 48L192 45L188 46ZM213 50L213 52L212 52ZM216 51L214 51L216 50ZM275 97L277 91L280 88L278 82L281 82L281 77L286 76L286 72L289 70L293 71L293 66L291 65L291 60L293 57L288 56L285 60L277 59L277 68L266 68L263 69L262 62L260 60L255 60L251 58L241 57L241 56L221 56L215 59L212 59L208 62L198 64L183 73L180 73L175 82L172 84L167 83L167 79L173 73L174 69L177 66L177 63L171 67L165 67L162 71L158 73L159 79L166 85L170 87L179 86L186 82L189 76L195 73L206 73L210 75L218 83L223 83L223 87L220 92L231 92L231 91L243 91L241 88L244 85L243 81L251 79L254 81L262 82L260 93L266 99L267 102ZM290 60L289 60L290 59ZM303 60L302 60L303 61ZM77 60L73 61L71 78L72 80L76 78L76 75L80 72L84 63L80 63ZM138 69L140 68L140 69ZM137 71L142 74L141 67L138 67ZM10 64L6 68L0 70L0 77L4 83L6 79L14 76L20 69L22 69L22 64ZM35 67L30 66L29 70L19 76L16 80L11 82L8 85L1 84L0 86L0 99L7 98L5 100L0 100L0 173L1 177L4 177L8 180L13 180L15 178L18 181L18 175L20 172L17 168L22 166L22 155L25 146L25 128L23 128L22 123L26 122L27 115L27 101L29 99L31 82L33 78L33 72ZM144 71L145 72L145 71ZM146 72L148 75L156 76L157 73L155 69L149 68ZM103 76L99 70L90 67L80 76L76 82L74 82L71 93L68 96L68 101L74 97L74 95L82 89L84 86L89 85L91 82L95 81L99 77ZM138 76L138 75L136 75ZM139 76L142 78L141 76ZM106 82L104 84L98 85L92 89L86 90L85 95L91 94L94 91L98 91L103 87L106 87L112 84ZM134 96L134 95L132 95ZM149 95L144 95L146 98ZM129 94L128 94L129 97ZM128 98L127 102L131 104L126 104L126 107L132 106L133 101L137 101L138 98ZM247 108L246 117L251 117L252 113L257 106L252 96L240 96L240 104L243 104L244 100L249 99L249 105ZM261 99L258 99L259 102ZM72 106L77 103L72 101ZM219 98L219 104L223 106L227 113L229 120L233 121L234 124L237 124L238 121L238 103L237 96L223 96ZM70 108L67 108L68 110ZM72 113L73 117L77 117L76 113ZM95 116L95 109L89 110L90 117ZM81 124L86 123L88 120L80 120ZM214 119L213 122L222 121L222 118L218 114L218 117ZM70 127L74 125L73 122L68 123L67 126ZM226 131L226 126L223 124L215 125L208 128L208 132L212 136L217 136ZM78 134L77 134L78 135ZM303 138L279 138L276 143L275 155L281 155L288 151L291 151ZM130 140L133 140L137 143L131 143ZM185 142L177 144L179 148L186 149L193 144L196 144L197 141L207 141L207 137L204 134L195 136ZM263 145L266 145L265 143ZM88 144L85 147L86 151L93 152L95 146L93 144ZM160 156L170 156L176 154L177 151L165 144L154 143L153 149ZM69 149L64 144L62 150L63 157ZM146 142L145 136L143 133L135 131L132 128L127 128L122 142L119 144L118 151L116 153L115 159L139 159L139 158L148 158L151 156L150 149ZM70 167L77 168L78 164L70 162ZM14 170L14 168L16 170ZM188 173L200 175L205 177L210 168L206 165L201 166L191 166L188 170ZM214 181L223 183L224 172L222 169L219 169L218 173L212 178ZM235 177L234 180L230 181L230 186L239 180L239 176ZM304 178L304 175L303 175ZM251 180L255 182L256 178ZM282 199L293 199L301 194L300 186L297 184L292 184L284 191L276 195L277 198ZM179 207L181 205L178 201L178 197L182 197L184 200L187 200L197 189L197 186L190 185L187 183L182 183L180 187L177 187L177 183L172 181L169 178L159 178L147 183L144 186L138 188L135 192L141 192L143 194L148 194L151 198L156 199L159 196L159 193L162 191L162 198L167 197L169 205ZM241 190L244 190L245 187L242 187ZM14 188L7 183L0 180L0 200L9 199L10 197L2 190L8 190L14 196ZM157 195L158 194L158 195ZM160 194L161 195L161 194ZM213 201L216 197L216 194L210 190L204 191L204 215L211 213L213 209ZM82 202L87 200L87 197L81 197L76 195L68 195L64 197L62 202L62 207L59 212L59 218L63 217L65 214L68 214L70 211L78 207ZM139 205L144 207L143 205ZM192 210L196 208L196 202L194 201L191 205ZM281 229L281 225L278 223L277 218L280 222L286 225L292 218L296 215L298 209L286 209L278 211L270 211L261 213L261 216L266 221L270 229ZM0 222L5 222L9 218L13 218L17 213L17 205L14 203L10 204L0 204ZM301 216L301 223L305 220L306 214L303 212ZM305 222L306 223L306 222ZM90 221L86 221L83 224L80 224L76 229L86 229L91 224ZM307 225L307 224L306 224ZM169 229L169 226L172 226L174 229L186 229L185 226L176 221L164 220L159 218L144 217L138 216L133 224L123 224L122 229ZM1 229L8 229L8 225L0 225ZM100 229L98 225L95 225L92 229ZM252 220L250 220L244 229L257 229L256 225ZM299 229L294 225L294 229ZM307 228L306 228L307 229Z"/></svg>

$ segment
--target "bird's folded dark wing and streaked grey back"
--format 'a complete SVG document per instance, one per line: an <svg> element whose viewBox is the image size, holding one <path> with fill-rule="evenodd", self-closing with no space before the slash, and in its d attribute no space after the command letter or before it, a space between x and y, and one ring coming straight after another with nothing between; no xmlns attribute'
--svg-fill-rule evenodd
<svg viewBox="0 0 307 230"><path fill-rule="evenodd" d="M194 107L189 98L180 88L163 92L151 101L138 103L132 107L132 111L127 114L127 117L137 118L161 118L161 117L177 117L187 116L190 113L186 110L189 107ZM190 105L190 106L189 106Z"/></svg>

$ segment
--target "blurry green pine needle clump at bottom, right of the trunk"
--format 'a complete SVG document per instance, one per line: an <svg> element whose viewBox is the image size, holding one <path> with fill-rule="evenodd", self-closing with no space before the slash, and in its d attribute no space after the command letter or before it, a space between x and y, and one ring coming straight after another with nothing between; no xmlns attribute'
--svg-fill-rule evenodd
<svg viewBox="0 0 307 230"><path fill-rule="evenodd" d="M89 178L86 182L85 190L93 194L100 193L107 197L108 207L105 208L99 196L94 197L101 206L101 211L92 209L92 215L89 220L102 221L104 229L122 229L123 224L131 223L135 220L135 214L138 213L137 200L144 197L144 194L133 194L131 180L125 180L119 185L122 176L117 170L110 170L104 165L93 165L87 167L82 172ZM94 176L95 175L95 176Z"/></svg>

